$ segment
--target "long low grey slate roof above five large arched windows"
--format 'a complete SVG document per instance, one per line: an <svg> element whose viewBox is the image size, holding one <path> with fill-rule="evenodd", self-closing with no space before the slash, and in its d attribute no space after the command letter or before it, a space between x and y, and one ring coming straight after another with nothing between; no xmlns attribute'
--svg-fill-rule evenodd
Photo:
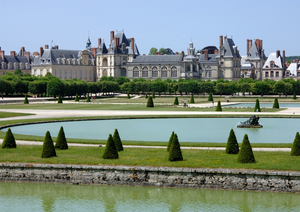
<svg viewBox="0 0 300 212"><path fill-rule="evenodd" d="M132 63L178 63L182 61L181 55L139 55Z"/></svg>

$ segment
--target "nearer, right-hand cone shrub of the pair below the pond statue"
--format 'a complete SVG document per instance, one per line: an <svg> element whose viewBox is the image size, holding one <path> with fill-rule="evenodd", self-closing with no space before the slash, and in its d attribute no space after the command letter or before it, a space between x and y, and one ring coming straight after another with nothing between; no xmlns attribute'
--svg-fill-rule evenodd
<svg viewBox="0 0 300 212"><path fill-rule="evenodd" d="M238 152L238 163L255 163L252 147L250 145L248 135L244 135L244 139L241 145L241 149Z"/></svg>

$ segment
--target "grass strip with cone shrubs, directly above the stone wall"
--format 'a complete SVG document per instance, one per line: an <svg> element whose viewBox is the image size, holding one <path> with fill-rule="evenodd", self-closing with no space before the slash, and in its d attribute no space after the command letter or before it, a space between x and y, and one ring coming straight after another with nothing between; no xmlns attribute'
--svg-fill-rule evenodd
<svg viewBox="0 0 300 212"><path fill-rule="evenodd" d="M90 165L123 165L155 167L190 167L190 168L230 168L259 170L300 171L299 157L290 156L290 152L256 152L254 164L236 163L237 155L227 155L225 150L182 150L183 161L168 161L166 149L124 148L119 152L119 159L104 160L104 147L70 147L57 150L58 157L41 158L42 146L18 145L16 149L0 149L0 161L17 163L58 163Z"/></svg>

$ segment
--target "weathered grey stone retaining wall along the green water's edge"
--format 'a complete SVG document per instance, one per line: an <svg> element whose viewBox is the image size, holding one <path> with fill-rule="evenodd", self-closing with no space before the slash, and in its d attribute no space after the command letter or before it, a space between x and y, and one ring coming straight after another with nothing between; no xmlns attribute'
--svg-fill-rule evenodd
<svg viewBox="0 0 300 212"><path fill-rule="evenodd" d="M0 164L0 181L300 192L300 172Z"/></svg>

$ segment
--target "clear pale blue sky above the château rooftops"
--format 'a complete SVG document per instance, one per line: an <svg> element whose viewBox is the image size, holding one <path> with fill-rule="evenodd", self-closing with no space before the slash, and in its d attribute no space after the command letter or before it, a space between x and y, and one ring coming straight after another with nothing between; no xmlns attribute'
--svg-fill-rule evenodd
<svg viewBox="0 0 300 212"><path fill-rule="evenodd" d="M190 38L196 49L219 48L219 36L233 38L240 55L246 40L263 40L263 49L300 55L298 1L1 1L0 46L5 55L31 53L53 40L59 49L85 49L98 37L110 44L110 31L134 37L140 54L151 47L187 52ZM54 45L54 44L53 44Z"/></svg>

